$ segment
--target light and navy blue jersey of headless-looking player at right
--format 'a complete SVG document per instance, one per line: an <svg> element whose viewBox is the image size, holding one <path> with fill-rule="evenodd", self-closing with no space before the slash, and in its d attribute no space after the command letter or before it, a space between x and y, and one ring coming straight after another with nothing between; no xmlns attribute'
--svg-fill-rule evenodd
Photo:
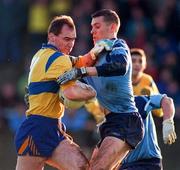
<svg viewBox="0 0 180 170"><path fill-rule="evenodd" d="M136 106L143 118L145 134L143 140L136 147L136 149L132 150L124 159L123 164L142 159L162 158L151 111L161 107L161 100L163 96L164 95L158 94L152 96L135 97Z"/></svg>

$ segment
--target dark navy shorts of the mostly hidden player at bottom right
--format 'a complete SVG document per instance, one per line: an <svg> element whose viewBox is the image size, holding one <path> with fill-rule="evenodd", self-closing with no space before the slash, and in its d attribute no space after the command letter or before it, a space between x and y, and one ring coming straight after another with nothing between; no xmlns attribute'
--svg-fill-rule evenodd
<svg viewBox="0 0 180 170"><path fill-rule="evenodd" d="M163 170L163 166L161 159L151 158L126 163L119 170Z"/></svg>

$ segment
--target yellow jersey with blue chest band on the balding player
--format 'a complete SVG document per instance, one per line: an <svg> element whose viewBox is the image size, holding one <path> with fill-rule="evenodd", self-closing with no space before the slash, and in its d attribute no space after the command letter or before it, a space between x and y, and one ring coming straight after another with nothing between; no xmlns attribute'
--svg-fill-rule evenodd
<svg viewBox="0 0 180 170"><path fill-rule="evenodd" d="M50 118L63 116L64 106L59 101L57 77L72 68L69 56L56 47L44 44L34 55L28 78L29 109L26 115L41 115ZM73 82L61 86L67 88Z"/></svg>

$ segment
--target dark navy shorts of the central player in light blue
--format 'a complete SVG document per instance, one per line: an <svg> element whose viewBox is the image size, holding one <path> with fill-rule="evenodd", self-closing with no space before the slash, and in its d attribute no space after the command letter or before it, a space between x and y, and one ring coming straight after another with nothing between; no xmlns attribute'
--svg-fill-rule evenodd
<svg viewBox="0 0 180 170"><path fill-rule="evenodd" d="M144 126L139 113L109 113L99 127L101 141L113 136L126 141L134 149L144 136Z"/></svg>

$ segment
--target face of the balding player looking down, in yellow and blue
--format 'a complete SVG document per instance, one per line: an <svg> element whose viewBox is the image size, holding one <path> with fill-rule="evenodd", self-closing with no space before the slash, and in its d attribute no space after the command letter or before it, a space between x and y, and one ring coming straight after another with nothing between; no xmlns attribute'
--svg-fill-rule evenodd
<svg viewBox="0 0 180 170"><path fill-rule="evenodd" d="M68 25L62 27L61 33L55 36L55 46L64 54L69 54L74 47L76 30Z"/></svg>

